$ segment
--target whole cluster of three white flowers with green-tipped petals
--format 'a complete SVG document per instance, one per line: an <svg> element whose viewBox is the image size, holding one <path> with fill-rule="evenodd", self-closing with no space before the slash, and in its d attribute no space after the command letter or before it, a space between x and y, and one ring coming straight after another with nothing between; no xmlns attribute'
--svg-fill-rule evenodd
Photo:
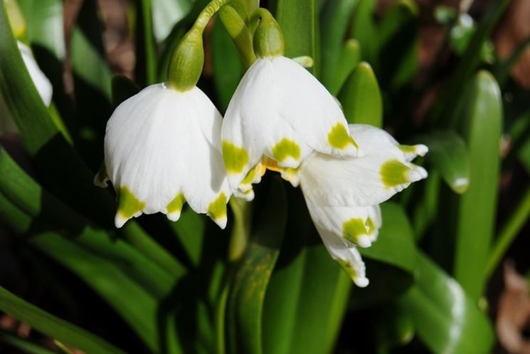
<svg viewBox="0 0 530 354"><path fill-rule="evenodd" d="M268 27L260 31L265 22ZM255 33L269 38L257 41L255 35L258 58L224 119L196 80L150 85L110 117L105 168L95 181L103 187L110 180L115 187L116 227L142 213L161 212L176 221L187 202L224 228L228 199L253 199L252 184L267 169L278 171L302 188L332 258L358 286L366 286L356 247L376 240L379 203L427 177L410 161L428 149L398 145L376 127L348 125L326 88L283 56L273 19L262 21ZM176 63L186 65L182 58Z"/></svg>

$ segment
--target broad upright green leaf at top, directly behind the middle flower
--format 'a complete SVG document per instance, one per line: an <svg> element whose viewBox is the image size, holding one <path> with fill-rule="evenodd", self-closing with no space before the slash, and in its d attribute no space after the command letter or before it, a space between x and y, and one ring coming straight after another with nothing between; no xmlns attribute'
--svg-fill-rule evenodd
<svg viewBox="0 0 530 354"><path fill-rule="evenodd" d="M276 19L285 36L285 56L310 56L309 71L319 76L320 50L318 11L315 0L276 0Z"/></svg>

